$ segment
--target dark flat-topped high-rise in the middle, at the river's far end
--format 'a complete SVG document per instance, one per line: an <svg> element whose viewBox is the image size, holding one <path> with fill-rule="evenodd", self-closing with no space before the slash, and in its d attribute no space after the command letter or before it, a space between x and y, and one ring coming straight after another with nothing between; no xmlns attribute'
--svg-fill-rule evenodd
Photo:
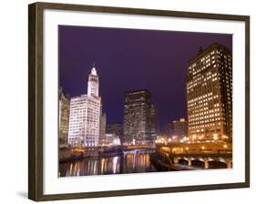
<svg viewBox="0 0 256 204"><path fill-rule="evenodd" d="M125 93L124 142L128 145L151 144L156 136L156 109L151 103L148 90Z"/></svg>

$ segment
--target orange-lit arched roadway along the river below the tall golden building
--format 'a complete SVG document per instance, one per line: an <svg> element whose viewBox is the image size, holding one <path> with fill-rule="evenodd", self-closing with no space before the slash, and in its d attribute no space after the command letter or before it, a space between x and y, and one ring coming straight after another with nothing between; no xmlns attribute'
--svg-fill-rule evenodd
<svg viewBox="0 0 256 204"><path fill-rule="evenodd" d="M172 168L232 168L232 145L224 142L158 145L159 162Z"/></svg>

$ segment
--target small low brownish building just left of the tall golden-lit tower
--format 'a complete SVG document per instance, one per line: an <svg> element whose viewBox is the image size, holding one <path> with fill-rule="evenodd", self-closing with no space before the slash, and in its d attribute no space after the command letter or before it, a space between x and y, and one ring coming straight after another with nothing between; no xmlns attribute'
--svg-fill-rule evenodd
<svg viewBox="0 0 256 204"><path fill-rule="evenodd" d="M188 137L188 123L185 118L172 120L168 123L168 135L173 141L180 141Z"/></svg>

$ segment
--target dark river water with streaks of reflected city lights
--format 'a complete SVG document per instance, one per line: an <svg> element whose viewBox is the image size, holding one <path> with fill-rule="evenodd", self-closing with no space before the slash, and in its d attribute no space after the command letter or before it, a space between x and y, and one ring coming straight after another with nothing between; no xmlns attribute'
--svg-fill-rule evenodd
<svg viewBox="0 0 256 204"><path fill-rule="evenodd" d="M114 157L94 157L61 163L60 177L153 172L147 150L129 151Z"/></svg>

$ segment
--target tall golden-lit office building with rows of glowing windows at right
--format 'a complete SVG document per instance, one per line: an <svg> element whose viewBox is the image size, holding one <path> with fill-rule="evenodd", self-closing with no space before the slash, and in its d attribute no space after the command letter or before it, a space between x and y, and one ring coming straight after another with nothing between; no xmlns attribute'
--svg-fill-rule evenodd
<svg viewBox="0 0 256 204"><path fill-rule="evenodd" d="M232 56L213 44L189 60L187 76L191 141L232 138Z"/></svg>

